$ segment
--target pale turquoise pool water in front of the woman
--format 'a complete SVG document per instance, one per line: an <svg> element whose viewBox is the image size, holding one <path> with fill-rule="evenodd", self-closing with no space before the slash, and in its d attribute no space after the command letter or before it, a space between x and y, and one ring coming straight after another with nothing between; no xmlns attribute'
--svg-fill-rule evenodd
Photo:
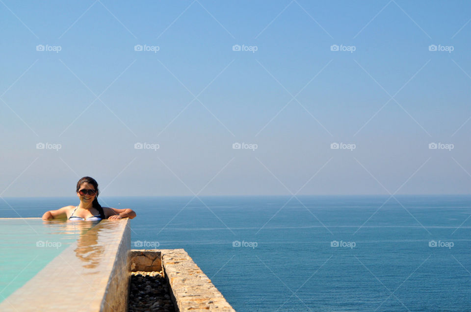
<svg viewBox="0 0 471 312"><path fill-rule="evenodd" d="M0 218L0 302L96 223Z"/></svg>

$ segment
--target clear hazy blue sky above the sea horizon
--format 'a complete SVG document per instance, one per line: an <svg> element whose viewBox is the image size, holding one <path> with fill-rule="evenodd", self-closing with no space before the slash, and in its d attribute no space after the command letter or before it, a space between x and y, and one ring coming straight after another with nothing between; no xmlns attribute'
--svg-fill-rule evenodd
<svg viewBox="0 0 471 312"><path fill-rule="evenodd" d="M469 1L3 0L0 196L85 175L105 196L470 193L470 19Z"/></svg>

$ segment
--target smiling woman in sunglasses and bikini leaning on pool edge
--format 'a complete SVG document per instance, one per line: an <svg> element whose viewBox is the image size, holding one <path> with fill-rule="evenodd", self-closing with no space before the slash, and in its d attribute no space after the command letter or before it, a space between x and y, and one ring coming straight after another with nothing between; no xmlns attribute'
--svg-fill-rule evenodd
<svg viewBox="0 0 471 312"><path fill-rule="evenodd" d="M43 215L43 220L67 218L74 221L100 221L103 219L132 219L136 216L136 213L131 209L102 207L97 200L99 193L97 181L91 177L83 177L77 183L77 196L80 199L80 204L47 211Z"/></svg>

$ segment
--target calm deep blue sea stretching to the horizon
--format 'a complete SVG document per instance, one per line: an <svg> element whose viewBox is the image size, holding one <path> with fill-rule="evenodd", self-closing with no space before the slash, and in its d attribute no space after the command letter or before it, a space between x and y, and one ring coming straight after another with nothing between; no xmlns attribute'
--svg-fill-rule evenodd
<svg viewBox="0 0 471 312"><path fill-rule="evenodd" d="M5 199L0 217L78 204ZM471 311L468 195L100 202L136 211L132 248L184 248L236 311Z"/></svg>

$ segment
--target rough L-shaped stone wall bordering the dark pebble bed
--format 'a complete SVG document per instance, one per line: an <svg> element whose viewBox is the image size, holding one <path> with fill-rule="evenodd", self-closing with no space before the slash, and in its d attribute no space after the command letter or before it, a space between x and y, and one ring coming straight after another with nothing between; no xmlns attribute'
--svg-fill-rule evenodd
<svg viewBox="0 0 471 312"><path fill-rule="evenodd" d="M132 249L131 271L160 271L168 280L177 311L235 312L183 249Z"/></svg>

